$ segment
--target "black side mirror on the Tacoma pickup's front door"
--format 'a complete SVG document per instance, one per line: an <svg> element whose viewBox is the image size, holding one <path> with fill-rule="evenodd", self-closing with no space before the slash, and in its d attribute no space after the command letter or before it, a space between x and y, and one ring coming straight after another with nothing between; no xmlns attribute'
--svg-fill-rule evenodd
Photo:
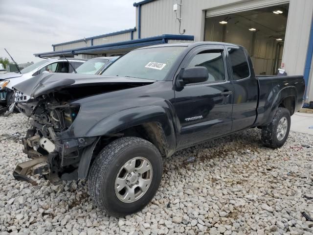
<svg viewBox="0 0 313 235"><path fill-rule="evenodd" d="M176 80L176 85L182 87L189 83L205 82L209 78L209 72L205 67L192 67L188 69L182 69L179 72Z"/></svg>

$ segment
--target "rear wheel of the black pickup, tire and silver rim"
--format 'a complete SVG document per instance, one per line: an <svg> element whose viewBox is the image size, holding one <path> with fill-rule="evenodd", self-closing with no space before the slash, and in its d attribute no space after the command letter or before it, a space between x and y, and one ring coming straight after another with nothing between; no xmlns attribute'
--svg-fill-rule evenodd
<svg viewBox="0 0 313 235"><path fill-rule="evenodd" d="M284 120L286 120L287 123L283 124ZM279 107L272 121L267 126L262 127L263 144L270 148L279 148L283 146L289 135L290 124L291 118L289 110ZM281 132L282 129L279 128L279 125L282 128L285 126L283 132ZM285 133L285 135L282 133Z"/></svg>

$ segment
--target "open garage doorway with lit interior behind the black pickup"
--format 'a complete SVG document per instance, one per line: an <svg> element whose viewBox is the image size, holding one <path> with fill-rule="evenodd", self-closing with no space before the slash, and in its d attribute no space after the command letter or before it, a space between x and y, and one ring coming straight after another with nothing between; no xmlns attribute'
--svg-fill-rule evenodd
<svg viewBox="0 0 313 235"><path fill-rule="evenodd" d="M205 19L205 41L242 45L255 74L275 75L281 66L288 4L264 7Z"/></svg>

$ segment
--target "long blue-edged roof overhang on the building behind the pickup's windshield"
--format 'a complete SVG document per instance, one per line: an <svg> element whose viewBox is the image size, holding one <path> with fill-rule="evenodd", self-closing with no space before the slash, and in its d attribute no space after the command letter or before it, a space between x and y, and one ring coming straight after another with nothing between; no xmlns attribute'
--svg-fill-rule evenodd
<svg viewBox="0 0 313 235"><path fill-rule="evenodd" d="M43 53L34 54L37 57L53 57L53 56L73 56L77 54L100 54L100 53L119 53L122 51L127 51L139 48L146 47L156 44L168 43L168 40L182 40L182 41L194 41L194 36L192 35L175 35L175 34L163 34L156 37L135 39L117 43L108 43L97 46L90 47L80 47L70 50L63 51L50 51ZM125 53L125 52L124 52Z"/></svg>

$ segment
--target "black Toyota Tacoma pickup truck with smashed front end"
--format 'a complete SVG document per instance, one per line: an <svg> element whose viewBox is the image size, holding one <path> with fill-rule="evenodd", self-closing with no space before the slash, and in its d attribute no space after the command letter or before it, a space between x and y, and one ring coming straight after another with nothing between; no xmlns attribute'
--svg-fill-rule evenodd
<svg viewBox="0 0 313 235"><path fill-rule="evenodd" d="M255 76L245 48L225 43L135 49L103 75L41 74L15 86L33 118L14 170L58 184L88 177L94 203L115 216L156 194L162 157L224 135L262 128L281 147L302 105L302 76Z"/></svg>

